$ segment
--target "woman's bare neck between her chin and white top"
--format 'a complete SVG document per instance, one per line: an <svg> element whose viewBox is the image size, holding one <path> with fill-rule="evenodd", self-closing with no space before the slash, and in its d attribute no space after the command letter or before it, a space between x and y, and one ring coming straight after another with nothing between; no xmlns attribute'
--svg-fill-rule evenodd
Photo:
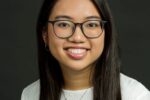
<svg viewBox="0 0 150 100"><path fill-rule="evenodd" d="M92 86L92 72L91 67L87 67L80 71L70 69L62 69L64 77L64 89L67 90L80 90Z"/></svg>

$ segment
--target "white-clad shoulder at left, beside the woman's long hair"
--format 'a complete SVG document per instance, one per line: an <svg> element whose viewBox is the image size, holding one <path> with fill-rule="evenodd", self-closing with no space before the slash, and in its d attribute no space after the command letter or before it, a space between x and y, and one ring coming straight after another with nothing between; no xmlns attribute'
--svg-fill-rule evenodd
<svg viewBox="0 0 150 100"><path fill-rule="evenodd" d="M40 81L37 80L23 89L21 100L38 100Z"/></svg>

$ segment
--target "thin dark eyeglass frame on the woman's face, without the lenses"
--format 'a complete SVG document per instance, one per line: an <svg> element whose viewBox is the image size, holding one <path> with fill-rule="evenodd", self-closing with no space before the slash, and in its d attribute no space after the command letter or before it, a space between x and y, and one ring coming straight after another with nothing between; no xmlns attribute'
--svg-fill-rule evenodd
<svg viewBox="0 0 150 100"><path fill-rule="evenodd" d="M55 29L54 29L54 24L55 24L56 22L58 22L58 21L69 21L69 22L73 23L74 28L72 29L72 34L70 34L70 36L68 36L68 37L59 37L59 36L56 34ZM88 37L88 36L84 33L84 31L83 31L83 24L86 23L86 22L88 22L88 21L100 21L100 25L101 25L101 28L102 28L102 32L101 32L98 36L96 36L96 37ZM88 38L88 39L98 38L98 37L101 36L101 34L103 33L103 31L104 31L104 26L105 26L105 24L106 24L107 22L108 22L108 21L106 21L106 20L87 20L87 21L84 21L84 22L82 22L82 23L75 23L75 22L70 21L70 20L54 20L54 21L48 20L48 23L51 23L52 26L53 26L53 31L54 31L55 35L56 35L58 38L61 38L61 39L70 38L70 37L74 34L77 25L79 25L79 27L80 27L80 29L81 29L83 35L84 35L86 38Z"/></svg>

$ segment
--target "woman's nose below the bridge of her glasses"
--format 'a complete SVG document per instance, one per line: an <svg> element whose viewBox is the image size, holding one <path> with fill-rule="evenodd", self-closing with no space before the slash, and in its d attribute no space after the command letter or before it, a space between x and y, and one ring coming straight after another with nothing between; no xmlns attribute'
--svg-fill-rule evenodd
<svg viewBox="0 0 150 100"><path fill-rule="evenodd" d="M86 40L86 37L84 36L82 29L81 29L81 25L77 25L75 27L75 31L73 33L73 35L68 38L68 40L70 42L74 42L74 43L84 43Z"/></svg>

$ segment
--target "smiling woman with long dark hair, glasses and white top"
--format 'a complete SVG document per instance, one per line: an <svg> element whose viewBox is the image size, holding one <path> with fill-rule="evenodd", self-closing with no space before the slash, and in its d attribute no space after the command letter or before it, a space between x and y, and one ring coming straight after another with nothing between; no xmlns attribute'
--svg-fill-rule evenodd
<svg viewBox="0 0 150 100"><path fill-rule="evenodd" d="M150 100L141 83L120 74L106 0L44 0L37 39L40 80L22 100Z"/></svg>

